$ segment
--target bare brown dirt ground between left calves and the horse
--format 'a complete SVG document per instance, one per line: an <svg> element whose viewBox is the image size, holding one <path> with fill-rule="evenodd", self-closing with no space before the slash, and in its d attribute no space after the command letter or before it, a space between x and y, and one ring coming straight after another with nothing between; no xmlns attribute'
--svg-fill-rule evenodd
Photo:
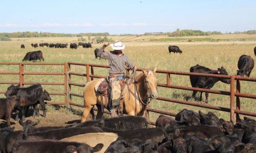
<svg viewBox="0 0 256 153"><path fill-rule="evenodd" d="M67 110L64 107L54 107L54 106L47 106L47 115L46 117L42 117L42 110L40 110L40 116L33 117L33 110L30 108L28 111L25 121L40 121L37 126L35 127L42 127L42 126L67 126L70 123L67 122L80 122L80 114L81 111L77 111L73 109ZM20 116L21 117L21 116ZM12 115L12 119L10 119L11 125L10 127L15 127L15 130L22 130L22 125L19 122L15 122L15 115ZM3 119L0 119L0 128L6 127L6 122Z"/></svg>

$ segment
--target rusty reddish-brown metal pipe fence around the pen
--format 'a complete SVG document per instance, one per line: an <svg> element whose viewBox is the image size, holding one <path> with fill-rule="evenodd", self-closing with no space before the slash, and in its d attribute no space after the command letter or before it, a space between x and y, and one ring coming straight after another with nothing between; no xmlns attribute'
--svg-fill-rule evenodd
<svg viewBox="0 0 256 153"><path fill-rule="evenodd" d="M83 107L82 104L74 103L72 100L72 97L81 97L83 98L82 94L77 94L72 92L72 86L77 87L84 87L85 84L72 82L72 75L78 76L78 77L86 77L86 81L89 82L90 80L93 80L94 78L105 78L106 76L102 75L94 75L94 68L109 68L108 65L99 65L99 64L88 64L88 63L75 63L75 62L67 62L67 63L0 63L0 65L19 65L19 72L0 72L0 75L19 75L19 81L0 81L0 84L19 84L20 87L23 87L24 85L33 85L35 83L41 83L42 85L57 85L57 86L64 86L65 91L63 93L49 93L51 95L59 95L59 96L65 96L64 102L48 102L47 104L61 104L61 105L74 105L77 107ZM24 71L24 65L61 65L63 66L63 72L28 72ZM75 72L72 71L71 65L74 66L82 66L86 67L86 70L84 72ZM144 70L144 68L138 68L137 71ZM248 111L242 111L241 110L241 104L240 104L240 97L248 98L248 99L256 99L256 93L255 94L246 94L246 93L240 93L240 81L249 81L249 82L256 82L256 78L247 78L247 77L240 77L240 76L232 76L232 75L216 75L216 74L201 74L201 73L192 73L192 72L176 72L176 71L166 71L166 70L157 70L158 74L166 74L166 83L158 83L159 87L162 88L172 88L172 89L182 89L182 90L195 90L199 92L208 92L208 93L214 93L214 94L222 94L226 96L230 96L230 107L218 107L215 105L209 105L209 104L201 104L201 103L195 103L192 101L184 101L184 100L178 100L178 99L171 99L168 97L161 97L159 96L157 100L161 101L168 101L170 103L179 103L179 104L185 104L185 105L193 105L196 107L202 107L202 108L209 108L212 110L218 110L218 111L224 111L230 113L230 121L235 121L235 114L243 114L243 115L249 115L249 116L256 116L255 112L248 112ZM126 74L129 74L129 70L126 71ZM27 82L24 81L24 75L60 75L63 76L63 82ZM230 90L229 91L222 91L222 90L211 90L211 89L202 89L202 88L193 88L188 86L179 86L179 85L172 85L170 81L170 75L194 75L194 76L201 76L201 77L212 77L212 78L224 78L224 79L230 79ZM235 90L235 82L236 82L236 90ZM4 91L0 91L0 93L5 93ZM236 105L235 105L236 102ZM97 109L95 109L97 110ZM154 108L148 108L148 111L150 112L156 112L159 114L165 114L170 116L175 116L176 114L170 111L162 111L157 110ZM107 111L106 111L107 112ZM109 112L108 112L109 113ZM154 124L154 122L151 122Z"/></svg>

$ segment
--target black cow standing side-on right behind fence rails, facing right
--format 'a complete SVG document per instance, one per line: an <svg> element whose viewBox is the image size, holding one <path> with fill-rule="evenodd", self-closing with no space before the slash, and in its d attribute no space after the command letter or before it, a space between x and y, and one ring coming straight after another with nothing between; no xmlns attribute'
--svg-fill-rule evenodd
<svg viewBox="0 0 256 153"><path fill-rule="evenodd" d="M223 67L218 68L218 70L211 70L207 67L204 67L204 66L201 66L198 64L191 67L190 72L204 73L204 74L228 75L227 71ZM190 75L190 83L191 83L191 86L193 86L194 88L211 89L214 86L214 84L218 81L230 84L230 79L199 77L199 76ZM197 94L197 91L193 91L193 94L192 94L193 98L195 97L195 94ZM208 92L205 93L205 97L206 97L205 103L208 103ZM202 92L200 94L200 101L201 100L202 100Z"/></svg>

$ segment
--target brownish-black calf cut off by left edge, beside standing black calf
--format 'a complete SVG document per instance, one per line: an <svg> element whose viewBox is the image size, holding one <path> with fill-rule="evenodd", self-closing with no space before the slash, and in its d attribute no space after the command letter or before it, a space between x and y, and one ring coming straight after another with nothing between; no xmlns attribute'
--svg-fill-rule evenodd
<svg viewBox="0 0 256 153"><path fill-rule="evenodd" d="M10 128L10 118L12 110L18 104L19 97L11 96L8 99L0 99L0 118L5 119L8 128Z"/></svg>

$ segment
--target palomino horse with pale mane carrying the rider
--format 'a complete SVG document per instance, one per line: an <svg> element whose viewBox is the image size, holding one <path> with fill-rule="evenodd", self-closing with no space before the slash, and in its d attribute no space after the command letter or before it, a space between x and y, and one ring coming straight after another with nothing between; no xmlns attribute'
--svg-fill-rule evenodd
<svg viewBox="0 0 256 153"><path fill-rule="evenodd" d="M123 108L123 114L127 115L140 115L143 116L146 113L148 105L148 99L157 99L157 76L152 70L142 70L143 72L135 77L135 81L128 85L127 90L123 92L123 99L120 101L120 105ZM102 118L103 112L101 105L106 106L105 97L102 97L94 89L96 83L99 80L94 79L86 84L84 87L84 112L81 116L81 122L85 122L89 112L94 118L94 105L97 105L98 113L96 118ZM136 87L136 88L135 88ZM89 117L88 117L89 119Z"/></svg>

